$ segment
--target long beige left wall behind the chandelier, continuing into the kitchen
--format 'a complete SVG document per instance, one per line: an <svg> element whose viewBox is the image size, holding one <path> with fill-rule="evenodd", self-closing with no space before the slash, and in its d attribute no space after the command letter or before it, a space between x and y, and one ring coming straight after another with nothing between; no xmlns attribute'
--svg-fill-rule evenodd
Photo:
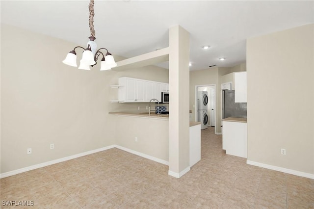
<svg viewBox="0 0 314 209"><path fill-rule="evenodd" d="M101 72L64 65L75 46L1 24L1 173L115 144L120 130L108 112L147 104L110 103L117 90L109 85L122 76L168 82L168 70L155 66Z"/></svg>

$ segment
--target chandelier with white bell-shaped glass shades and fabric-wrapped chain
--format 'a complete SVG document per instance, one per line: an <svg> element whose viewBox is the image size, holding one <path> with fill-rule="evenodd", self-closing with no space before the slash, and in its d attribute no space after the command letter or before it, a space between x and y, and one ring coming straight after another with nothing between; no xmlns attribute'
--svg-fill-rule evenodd
<svg viewBox="0 0 314 209"><path fill-rule="evenodd" d="M77 48L81 48L84 50L82 59L79 61L79 67L78 69L81 70L90 70L90 66L94 66L97 64L98 57L100 55L103 55L103 58L101 60L101 68L100 70L111 70L111 68L116 67L117 63L114 61L113 56L111 53L108 52L106 48L100 48L99 50L96 51L97 45L96 42L94 41L96 39L95 37L95 29L94 29L94 0L90 0L89 5L88 5L88 10L89 10L89 28L90 28L90 37L89 42L87 42L87 48L84 49L83 47L75 47L74 50L69 52L67 54L67 57L65 60L62 62L66 65L70 65L73 67L78 67L77 65L77 53L75 50ZM105 50L106 53L104 55L103 52L100 50Z"/></svg>

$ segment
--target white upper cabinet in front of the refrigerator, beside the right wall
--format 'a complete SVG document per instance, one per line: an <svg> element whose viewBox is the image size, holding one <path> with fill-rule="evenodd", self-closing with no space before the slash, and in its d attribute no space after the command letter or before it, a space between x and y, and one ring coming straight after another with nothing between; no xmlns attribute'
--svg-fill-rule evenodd
<svg viewBox="0 0 314 209"><path fill-rule="evenodd" d="M235 73L235 102L246 103L246 72Z"/></svg>

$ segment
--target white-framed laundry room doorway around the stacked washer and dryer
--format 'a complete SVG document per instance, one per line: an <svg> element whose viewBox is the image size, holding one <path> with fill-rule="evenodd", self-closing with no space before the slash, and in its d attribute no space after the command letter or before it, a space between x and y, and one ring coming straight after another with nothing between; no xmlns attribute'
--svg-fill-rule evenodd
<svg viewBox="0 0 314 209"><path fill-rule="evenodd" d="M215 127L216 133L216 85L215 84L207 84L207 85L196 85L195 86L195 121L202 120L199 118L198 114L198 92L206 91L208 95L208 105L207 105L207 115L208 122L207 126Z"/></svg>

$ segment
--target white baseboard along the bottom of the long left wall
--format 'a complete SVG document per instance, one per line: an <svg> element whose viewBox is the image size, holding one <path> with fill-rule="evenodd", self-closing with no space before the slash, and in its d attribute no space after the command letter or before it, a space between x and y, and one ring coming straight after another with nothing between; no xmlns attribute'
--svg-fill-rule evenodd
<svg viewBox="0 0 314 209"><path fill-rule="evenodd" d="M76 154L76 155L73 155L73 156L62 157L62 158L54 159L54 160L51 160L51 161L48 161L48 162L43 162L43 163L39 163L39 164L36 164L36 165L27 166L25 168L20 168L20 169L17 169L17 170L1 173L0 174L0 179L5 178L5 177L9 177L9 176L13 176L13 175L16 175L16 174L20 174L20 173L23 173L23 172L26 172L26 171L34 170L34 169L37 169L37 168L42 168L42 167L45 167L45 166L48 166L48 165L52 165L52 164L55 164L55 163L67 161L67 160L74 159L74 158L77 158L77 157L82 157L82 156L87 156L87 155L90 155L90 154L93 154L93 153L98 153L98 152L101 152L101 151L104 151L104 150L108 150L108 149L111 149L111 148L114 148L114 147L115 147L115 145L110 145L110 146L99 148L99 149L96 149L96 150L90 150L90 151L87 151L87 152L84 152L84 153L79 153L79 154Z"/></svg>

